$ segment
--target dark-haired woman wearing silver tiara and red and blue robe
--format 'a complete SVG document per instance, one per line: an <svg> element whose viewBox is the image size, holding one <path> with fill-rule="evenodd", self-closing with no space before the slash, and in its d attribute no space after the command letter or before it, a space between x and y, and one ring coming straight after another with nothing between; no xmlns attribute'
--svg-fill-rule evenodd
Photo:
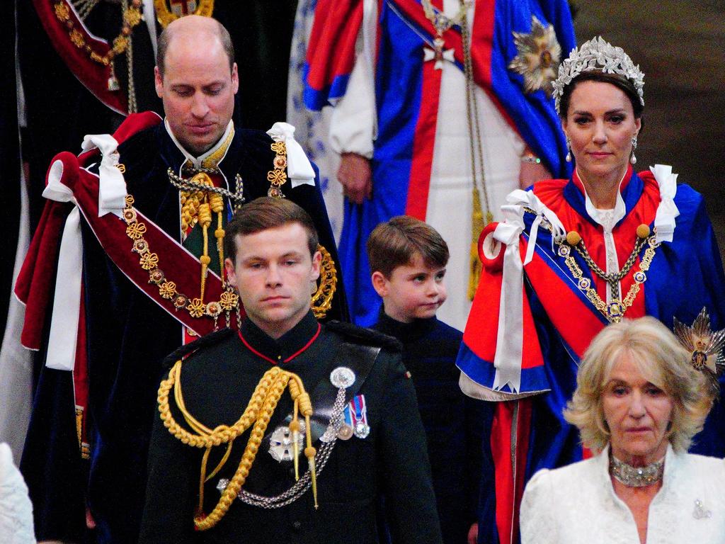
<svg viewBox="0 0 725 544"><path fill-rule="evenodd" d="M625 317L689 324L703 308L702 323L725 327L725 276L702 197L676 184L671 167L632 168L645 104L639 66L594 38L571 51L553 85L576 168L568 180L513 191L505 221L484 229L484 273L457 360L463 391L497 403L494 468L484 474L495 497L479 525L507 542L526 480L589 454L561 414L600 330ZM713 360L696 366L717 384ZM695 451L724 456L724 429L718 403Z"/></svg>

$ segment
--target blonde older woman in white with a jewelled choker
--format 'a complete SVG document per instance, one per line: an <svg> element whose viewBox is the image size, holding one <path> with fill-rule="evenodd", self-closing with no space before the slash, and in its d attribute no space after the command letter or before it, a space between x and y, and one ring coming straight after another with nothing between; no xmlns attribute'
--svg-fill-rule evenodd
<svg viewBox="0 0 725 544"><path fill-rule="evenodd" d="M523 544L725 542L725 462L687 453L712 405L690 359L655 318L597 334L564 411L596 455L531 478Z"/></svg>

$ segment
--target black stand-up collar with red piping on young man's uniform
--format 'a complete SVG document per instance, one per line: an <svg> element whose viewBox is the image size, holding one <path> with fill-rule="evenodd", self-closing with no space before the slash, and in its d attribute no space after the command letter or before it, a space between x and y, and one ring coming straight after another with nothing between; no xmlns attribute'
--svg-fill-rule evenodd
<svg viewBox="0 0 725 544"><path fill-rule="evenodd" d="M245 345L259 353L264 358L276 363L282 363L291 355L295 355L305 347L309 347L315 335L320 330L320 323L315 319L312 310L303 317L297 325L289 329L278 339L273 339L265 331L252 323L249 318L244 319L239 329L239 336Z"/></svg>

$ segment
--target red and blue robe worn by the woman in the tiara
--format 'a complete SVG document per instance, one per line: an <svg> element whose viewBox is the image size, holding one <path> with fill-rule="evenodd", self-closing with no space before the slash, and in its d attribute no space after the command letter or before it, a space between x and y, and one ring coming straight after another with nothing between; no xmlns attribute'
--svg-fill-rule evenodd
<svg viewBox="0 0 725 544"><path fill-rule="evenodd" d="M600 226L587 213L584 187L576 176L570 180L540 181L530 190L563 224L577 231L595 263L605 268L605 241ZM653 227L660 205L660 188L650 172L633 173L621 184L626 207L624 217L612 234L619 263L634 248L637 226ZM647 279L625 318L654 316L672 328L673 318L692 323L707 308L713 330L725 327L725 276L703 197L687 185L676 188L674 204L679 210L671 242L661 242ZM536 215L524 213L520 236L521 261ZM486 228L481 239L492 231ZM562 411L576 388L577 365L592 338L608 324L589 302L552 244L551 231L539 227L531 262L523 266L523 345L521 383L517 393L510 386L496 392L497 403L491 429L492 463L484 463L484 507L479 530L489 532L491 541L516 540L518 503L523 487L539 469L550 469L579 461L582 450L576 427L567 424ZM624 296L645 248L621 281ZM606 284L595 276L579 254L572 250L584 278L592 281L606 300ZM503 251L484 258L484 273L458 354L457 365L481 392L494 392L494 355L497 351L500 294L503 279ZM503 393L503 395L501 395ZM485 394L485 393L484 393ZM505 397L518 400L505 400ZM526 396L529 395L529 396ZM694 453L725 456L725 410L716 404L705 429L695 437ZM513 454L512 452L515 452ZM485 540L484 541L489 541Z"/></svg>

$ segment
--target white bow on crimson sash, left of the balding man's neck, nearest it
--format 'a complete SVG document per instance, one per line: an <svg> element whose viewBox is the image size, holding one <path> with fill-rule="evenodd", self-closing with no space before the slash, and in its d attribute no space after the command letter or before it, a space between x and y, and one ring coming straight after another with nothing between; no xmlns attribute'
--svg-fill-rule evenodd
<svg viewBox="0 0 725 544"><path fill-rule="evenodd" d="M118 142L110 134L87 134L80 145L83 151L97 147L101 151L99 165L98 216L112 213L122 217L126 206L126 182L117 168Z"/></svg>

